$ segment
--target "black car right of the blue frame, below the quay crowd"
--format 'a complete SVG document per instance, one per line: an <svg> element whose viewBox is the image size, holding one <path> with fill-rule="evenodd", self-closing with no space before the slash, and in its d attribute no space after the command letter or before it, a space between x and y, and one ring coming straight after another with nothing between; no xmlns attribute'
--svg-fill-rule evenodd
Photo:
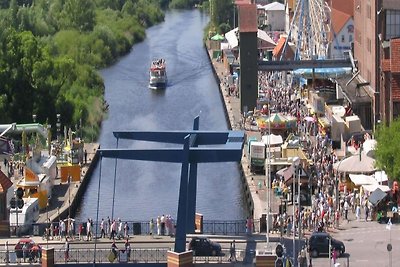
<svg viewBox="0 0 400 267"><path fill-rule="evenodd" d="M308 250L312 257L318 257L319 255L329 255L329 243L331 250L336 250L340 257L345 253L346 248L342 241L332 238L326 232L314 232L308 240Z"/></svg>

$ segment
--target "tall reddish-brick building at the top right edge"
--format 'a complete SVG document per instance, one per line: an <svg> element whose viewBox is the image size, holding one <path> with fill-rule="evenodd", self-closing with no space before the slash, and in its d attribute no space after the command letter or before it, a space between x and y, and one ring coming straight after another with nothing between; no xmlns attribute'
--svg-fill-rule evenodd
<svg viewBox="0 0 400 267"><path fill-rule="evenodd" d="M400 77L396 49L400 37L400 1L354 1L354 56L360 86L372 99L373 127L400 115ZM368 29L368 30L366 30ZM399 69L400 71L400 69Z"/></svg>

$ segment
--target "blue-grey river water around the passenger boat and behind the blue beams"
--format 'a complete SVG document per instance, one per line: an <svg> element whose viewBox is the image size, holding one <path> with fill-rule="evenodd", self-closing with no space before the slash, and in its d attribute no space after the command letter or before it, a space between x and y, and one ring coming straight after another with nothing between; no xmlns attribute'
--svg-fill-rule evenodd
<svg viewBox="0 0 400 267"><path fill-rule="evenodd" d="M198 10L168 11L165 22L147 30L147 38L115 65L101 72L109 113L103 121L101 148L115 148L118 130L190 130L200 115L201 130L227 130L224 108L203 47L208 16ZM152 59L166 59L168 87L148 89ZM163 147L163 143L120 140L119 148ZM180 164L147 161L101 161L99 219L111 217L116 177L114 218L149 220L170 214L176 218ZM78 220L96 219L100 164L97 165ZM237 163L198 165L196 211L205 220L245 218Z"/></svg>

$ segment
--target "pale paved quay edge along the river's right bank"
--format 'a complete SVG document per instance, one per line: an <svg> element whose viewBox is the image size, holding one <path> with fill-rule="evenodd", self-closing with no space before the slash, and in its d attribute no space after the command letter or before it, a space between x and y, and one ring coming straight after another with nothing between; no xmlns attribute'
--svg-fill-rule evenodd
<svg viewBox="0 0 400 267"><path fill-rule="evenodd" d="M207 49L207 48L205 48ZM212 51L207 50L208 57L213 67L214 76L217 80L218 87L220 90L221 99L226 111L227 122L231 130L243 130L243 118L240 112L240 99L235 95L230 95L228 88L225 84L227 83L229 71L224 67L223 62L217 61L212 58ZM255 131L246 130L246 140L248 137L257 136L260 139L260 133ZM267 199L267 188L265 186L265 175L254 175L250 172L249 163L246 157L247 142L243 149L242 159L239 163L239 169L241 173L242 185L243 185L243 196L245 203L251 216L255 222L259 221L263 215L267 213L266 199ZM261 182L261 187L259 186ZM271 213L279 212L280 200L273 195L271 190ZM255 226L255 231L261 230L263 227L261 224Z"/></svg>

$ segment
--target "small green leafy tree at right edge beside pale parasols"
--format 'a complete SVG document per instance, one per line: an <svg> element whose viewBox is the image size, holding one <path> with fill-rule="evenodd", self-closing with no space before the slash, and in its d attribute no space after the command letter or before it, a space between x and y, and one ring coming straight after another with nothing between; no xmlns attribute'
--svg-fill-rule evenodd
<svg viewBox="0 0 400 267"><path fill-rule="evenodd" d="M375 151L376 165L385 170L392 180L400 180L400 119L390 126L382 125L375 135L377 146Z"/></svg>

